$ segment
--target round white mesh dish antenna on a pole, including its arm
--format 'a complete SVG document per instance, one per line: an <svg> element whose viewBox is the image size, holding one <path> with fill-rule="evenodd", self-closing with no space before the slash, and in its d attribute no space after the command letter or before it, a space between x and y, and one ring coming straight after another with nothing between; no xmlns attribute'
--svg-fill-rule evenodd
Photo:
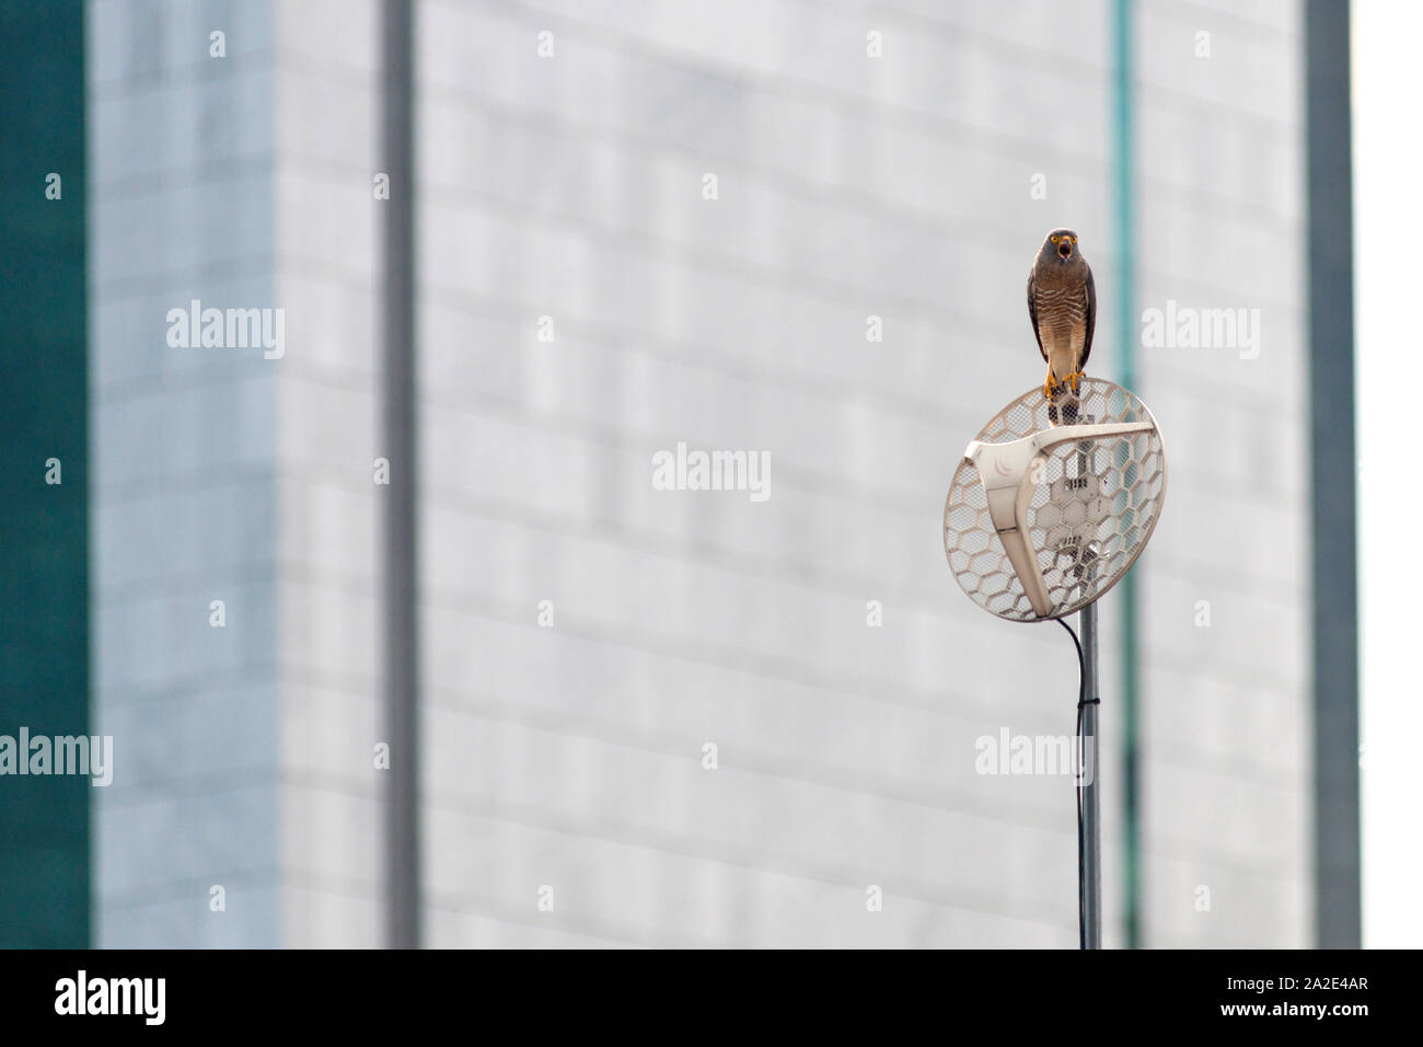
<svg viewBox="0 0 1423 1047"><path fill-rule="evenodd" d="M1087 607L1146 548L1165 501L1165 449L1147 406L1084 377L1023 393L963 452L943 553L969 598L1009 621Z"/></svg>

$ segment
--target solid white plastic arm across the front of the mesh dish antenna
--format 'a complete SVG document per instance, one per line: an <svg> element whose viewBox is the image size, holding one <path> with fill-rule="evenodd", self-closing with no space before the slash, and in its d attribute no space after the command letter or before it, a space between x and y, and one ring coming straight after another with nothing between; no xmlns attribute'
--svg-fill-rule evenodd
<svg viewBox="0 0 1423 1047"><path fill-rule="evenodd" d="M1007 443L972 440L963 457L973 464L988 496L988 513L1007 553L1017 580L1027 594L1037 617L1053 610L1047 597L1047 583L1037 568L1037 556L1027 544L1027 507L1033 500L1032 464L1046 457L1059 443L1073 440L1101 440L1107 436L1146 433L1155 429L1150 422L1103 422L1083 426L1057 426Z"/></svg>

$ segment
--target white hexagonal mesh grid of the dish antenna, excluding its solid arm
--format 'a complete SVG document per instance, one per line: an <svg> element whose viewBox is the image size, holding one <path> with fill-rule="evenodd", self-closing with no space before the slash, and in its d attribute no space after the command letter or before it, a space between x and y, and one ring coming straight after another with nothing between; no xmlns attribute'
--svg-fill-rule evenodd
<svg viewBox="0 0 1423 1047"><path fill-rule="evenodd" d="M978 470L959 464L943 506L943 551L959 585L1009 621L1044 621L1081 610L1110 590L1146 547L1165 500L1165 449L1155 419L1127 389L1081 380L1080 397L1050 405L1042 389L1013 400L978 439L1006 443L1062 422L1150 422L1151 430L1053 447L1030 477L1029 544L1047 584L1052 613L1033 611L989 520Z"/></svg>

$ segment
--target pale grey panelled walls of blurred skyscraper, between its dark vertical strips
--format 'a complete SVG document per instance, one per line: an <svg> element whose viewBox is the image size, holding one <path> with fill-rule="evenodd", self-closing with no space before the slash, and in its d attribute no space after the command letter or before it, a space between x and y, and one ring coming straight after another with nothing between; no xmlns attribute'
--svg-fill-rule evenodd
<svg viewBox="0 0 1423 1047"><path fill-rule="evenodd" d="M95 942L374 946L377 10L85 10ZM1072 734L1076 658L939 537L1043 379L1056 225L1093 373L1124 262L1161 319L1127 352L1165 513L1136 620L1101 605L1106 943L1128 869L1144 944L1312 942L1303 11L1138 7L1128 259L1114 17L416 4L425 943L1076 944L1072 779L976 766ZM174 346L195 301L280 311L280 352ZM679 443L764 452L770 497L657 490Z"/></svg>

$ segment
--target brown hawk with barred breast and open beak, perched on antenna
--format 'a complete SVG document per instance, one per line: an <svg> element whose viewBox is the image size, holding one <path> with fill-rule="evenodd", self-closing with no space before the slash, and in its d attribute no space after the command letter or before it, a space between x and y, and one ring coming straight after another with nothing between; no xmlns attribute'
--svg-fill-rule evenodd
<svg viewBox="0 0 1423 1047"><path fill-rule="evenodd" d="M1077 234L1053 229L1027 274L1027 316L1033 336L1047 360L1043 396L1049 400L1060 385L1073 393L1083 379L1091 355L1091 332L1097 325L1097 285L1091 266L1077 251Z"/></svg>

